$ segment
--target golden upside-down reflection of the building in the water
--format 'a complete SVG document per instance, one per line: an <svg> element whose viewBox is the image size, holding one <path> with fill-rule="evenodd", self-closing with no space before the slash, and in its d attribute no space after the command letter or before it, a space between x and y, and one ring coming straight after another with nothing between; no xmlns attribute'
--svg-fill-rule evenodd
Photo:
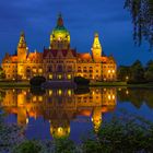
<svg viewBox="0 0 153 153"><path fill-rule="evenodd" d="M50 122L54 138L69 137L70 121L87 116L95 132L103 122L103 114L116 107L116 89L47 90L35 94L31 90L5 90L1 106L8 114L15 114L19 125L27 125L28 118L43 117Z"/></svg>

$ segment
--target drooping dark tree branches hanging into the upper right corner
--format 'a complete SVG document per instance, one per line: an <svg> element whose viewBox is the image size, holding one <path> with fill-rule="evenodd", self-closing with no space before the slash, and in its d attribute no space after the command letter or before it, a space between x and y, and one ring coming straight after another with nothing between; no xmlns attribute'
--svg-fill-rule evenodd
<svg viewBox="0 0 153 153"><path fill-rule="evenodd" d="M137 45L149 42L153 48L153 0L126 0L125 8L130 11L134 25L133 38Z"/></svg>

